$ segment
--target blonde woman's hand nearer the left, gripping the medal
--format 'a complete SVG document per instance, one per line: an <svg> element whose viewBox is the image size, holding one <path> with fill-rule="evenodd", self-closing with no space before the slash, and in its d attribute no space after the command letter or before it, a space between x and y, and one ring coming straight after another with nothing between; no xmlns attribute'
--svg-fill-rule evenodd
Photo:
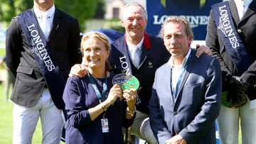
<svg viewBox="0 0 256 144"><path fill-rule="evenodd" d="M105 106L110 106L111 104L114 104L114 101L117 100L119 97L119 100L122 100L122 91L119 87L119 85L114 84L114 86L110 89L110 94L107 96L107 99L104 101Z"/></svg>

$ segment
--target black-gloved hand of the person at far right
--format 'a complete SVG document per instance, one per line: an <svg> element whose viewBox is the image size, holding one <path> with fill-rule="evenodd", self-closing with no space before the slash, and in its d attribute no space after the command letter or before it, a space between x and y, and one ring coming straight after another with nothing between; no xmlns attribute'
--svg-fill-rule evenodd
<svg viewBox="0 0 256 144"><path fill-rule="evenodd" d="M227 101L232 99L232 104L240 103L242 101L242 97L245 94L249 84L245 84L242 82L240 77L232 76L232 74L228 74L225 77L225 81L230 84L230 90L228 92Z"/></svg>

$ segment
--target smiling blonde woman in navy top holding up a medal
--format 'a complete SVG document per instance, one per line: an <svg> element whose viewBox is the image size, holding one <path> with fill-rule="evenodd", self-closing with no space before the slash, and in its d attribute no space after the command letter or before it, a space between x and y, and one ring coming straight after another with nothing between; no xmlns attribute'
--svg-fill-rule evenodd
<svg viewBox="0 0 256 144"><path fill-rule="evenodd" d="M84 35L81 52L87 75L70 77L63 94L68 110L65 143L124 143L122 127L134 121L137 91L122 92L117 84L113 86L115 74L109 72L110 43L105 35Z"/></svg>

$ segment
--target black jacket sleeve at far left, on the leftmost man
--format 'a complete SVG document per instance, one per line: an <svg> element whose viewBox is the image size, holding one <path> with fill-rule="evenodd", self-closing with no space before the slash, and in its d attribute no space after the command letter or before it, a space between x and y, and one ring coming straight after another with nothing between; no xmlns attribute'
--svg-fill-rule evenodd
<svg viewBox="0 0 256 144"><path fill-rule="evenodd" d="M18 18L12 18L6 30L6 65L16 77L16 70L20 63L22 48L22 29Z"/></svg>

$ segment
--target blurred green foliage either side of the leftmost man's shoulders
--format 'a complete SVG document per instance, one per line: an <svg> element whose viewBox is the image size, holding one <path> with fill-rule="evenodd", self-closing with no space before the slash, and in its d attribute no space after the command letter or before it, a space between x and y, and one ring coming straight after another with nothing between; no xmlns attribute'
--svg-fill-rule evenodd
<svg viewBox="0 0 256 144"><path fill-rule="evenodd" d="M98 1L102 0L55 0L55 6L78 18L81 31L85 31L85 21L95 15ZM0 21L10 23L18 13L31 9L33 0L0 0Z"/></svg>

